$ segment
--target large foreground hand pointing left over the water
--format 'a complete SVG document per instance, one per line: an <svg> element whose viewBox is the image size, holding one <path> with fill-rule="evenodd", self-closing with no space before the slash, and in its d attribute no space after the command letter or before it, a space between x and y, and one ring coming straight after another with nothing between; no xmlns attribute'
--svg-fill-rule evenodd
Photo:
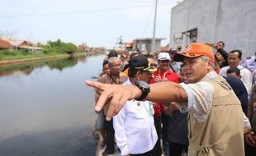
<svg viewBox="0 0 256 156"><path fill-rule="evenodd" d="M135 85L110 85L96 81L86 81L86 85L102 90L102 94L97 100L95 112L100 112L107 101L110 101L107 110L106 120L116 115L125 105L126 101L140 97L141 91Z"/></svg>

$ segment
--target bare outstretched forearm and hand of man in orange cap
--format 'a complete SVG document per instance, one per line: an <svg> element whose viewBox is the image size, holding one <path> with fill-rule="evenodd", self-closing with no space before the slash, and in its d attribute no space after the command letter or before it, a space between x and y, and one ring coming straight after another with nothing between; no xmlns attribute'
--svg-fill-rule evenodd
<svg viewBox="0 0 256 156"><path fill-rule="evenodd" d="M141 91L135 85L109 85L100 82L86 81L86 84L96 89L102 90L102 94L97 101L95 111L99 112L110 100L110 107L107 111L107 120L116 115L127 100L139 98ZM150 92L146 100L156 102L187 102L187 94L181 87L173 82L164 81L150 85Z"/></svg>

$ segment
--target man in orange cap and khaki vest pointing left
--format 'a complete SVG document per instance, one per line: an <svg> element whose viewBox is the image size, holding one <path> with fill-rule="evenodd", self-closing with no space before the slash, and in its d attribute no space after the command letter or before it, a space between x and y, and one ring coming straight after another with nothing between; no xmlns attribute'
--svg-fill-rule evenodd
<svg viewBox="0 0 256 156"><path fill-rule="evenodd" d="M87 84L104 90L95 110L102 109L111 98L107 120L110 120L126 100L146 99L159 102L178 102L181 112L188 115L188 155L244 155L246 141L256 144L250 134L250 124L239 99L224 78L214 71L215 57L206 44L190 44L185 53L174 56L183 62L189 84L161 82L147 85L104 85L87 81Z"/></svg>

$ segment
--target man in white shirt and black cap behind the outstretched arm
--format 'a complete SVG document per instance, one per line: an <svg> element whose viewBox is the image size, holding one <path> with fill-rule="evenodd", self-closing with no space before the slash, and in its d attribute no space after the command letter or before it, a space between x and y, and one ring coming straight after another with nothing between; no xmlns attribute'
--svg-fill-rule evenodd
<svg viewBox="0 0 256 156"><path fill-rule="evenodd" d="M123 85L135 85L137 80L149 83L154 67L145 56L130 58L129 79ZM116 145L121 155L150 155L158 135L154 127L154 109L149 101L132 99L113 117Z"/></svg>

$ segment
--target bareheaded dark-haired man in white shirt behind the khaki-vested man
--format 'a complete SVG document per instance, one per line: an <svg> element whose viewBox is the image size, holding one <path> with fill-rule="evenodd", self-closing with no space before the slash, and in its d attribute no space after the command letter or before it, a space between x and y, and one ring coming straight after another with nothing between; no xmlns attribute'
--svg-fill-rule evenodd
<svg viewBox="0 0 256 156"><path fill-rule="evenodd" d="M251 71L239 65L242 60L242 52L240 50L232 50L228 56L228 67L222 67L220 69L220 76L226 76L226 71L230 69L230 67L237 67L240 70L241 80L243 80L246 88L249 89L248 93L251 92L252 84L253 84L253 75Z"/></svg>

